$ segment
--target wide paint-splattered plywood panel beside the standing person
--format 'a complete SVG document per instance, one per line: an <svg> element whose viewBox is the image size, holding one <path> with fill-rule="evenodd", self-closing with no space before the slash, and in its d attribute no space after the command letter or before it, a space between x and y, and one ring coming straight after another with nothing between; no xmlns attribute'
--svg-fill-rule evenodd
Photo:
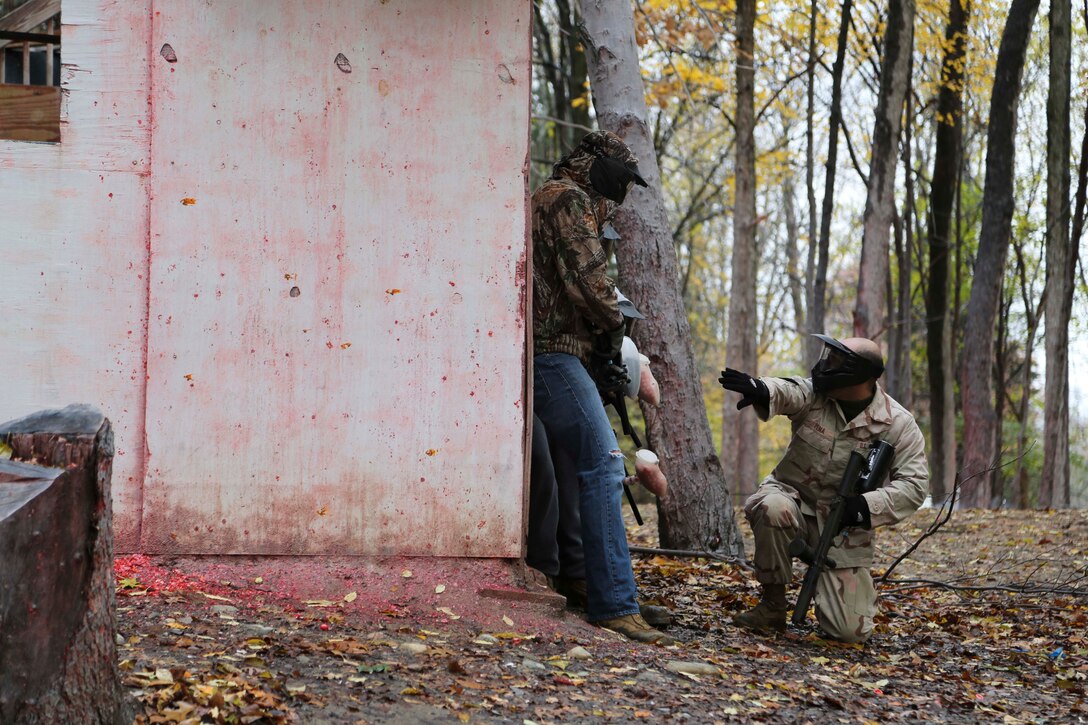
<svg viewBox="0 0 1088 725"><path fill-rule="evenodd" d="M156 5L146 550L520 554L529 10Z"/></svg>

